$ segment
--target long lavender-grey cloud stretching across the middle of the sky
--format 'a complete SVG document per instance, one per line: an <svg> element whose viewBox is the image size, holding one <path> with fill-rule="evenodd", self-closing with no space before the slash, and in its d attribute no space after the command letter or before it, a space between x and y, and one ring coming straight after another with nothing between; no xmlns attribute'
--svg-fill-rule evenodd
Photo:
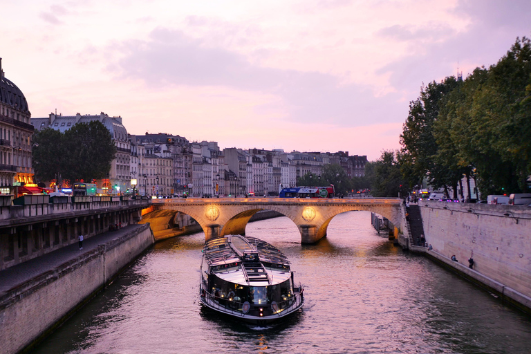
<svg viewBox="0 0 531 354"><path fill-rule="evenodd" d="M400 111L393 94L374 97L371 86L342 84L327 73L268 68L245 55L205 44L178 30L158 28L148 41L127 41L118 62L122 77L149 86L218 86L273 95L278 100L257 107L287 112L287 120L356 126L391 122Z"/></svg>

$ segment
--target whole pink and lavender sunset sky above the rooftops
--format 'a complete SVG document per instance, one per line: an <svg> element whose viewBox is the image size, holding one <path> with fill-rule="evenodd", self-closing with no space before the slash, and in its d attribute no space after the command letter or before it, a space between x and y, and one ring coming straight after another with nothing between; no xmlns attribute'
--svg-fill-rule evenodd
<svg viewBox="0 0 531 354"><path fill-rule="evenodd" d="M0 57L33 118L120 115L225 147L398 149L424 82L531 37L531 1L0 0Z"/></svg>

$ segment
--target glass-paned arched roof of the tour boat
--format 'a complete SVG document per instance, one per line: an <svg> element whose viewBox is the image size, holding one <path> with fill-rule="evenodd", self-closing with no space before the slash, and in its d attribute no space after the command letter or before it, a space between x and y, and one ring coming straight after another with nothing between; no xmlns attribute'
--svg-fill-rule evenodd
<svg viewBox="0 0 531 354"><path fill-rule="evenodd" d="M245 261L245 254L258 253L262 263L289 266L290 262L278 248L252 236L227 235L209 239L203 247L205 260L210 266Z"/></svg>

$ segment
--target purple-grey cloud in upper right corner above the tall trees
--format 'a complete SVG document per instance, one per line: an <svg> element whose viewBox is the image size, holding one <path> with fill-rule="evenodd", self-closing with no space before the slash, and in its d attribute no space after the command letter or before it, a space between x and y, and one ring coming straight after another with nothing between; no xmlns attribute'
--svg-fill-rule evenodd
<svg viewBox="0 0 531 354"><path fill-rule="evenodd" d="M380 30L380 37L406 42L409 53L385 64L376 73L388 73L395 89L418 94L422 82L456 75L458 66L466 77L478 66L495 64L517 36L529 35L530 1L461 0L451 12L469 21L465 30L432 25L429 28L397 25Z"/></svg>

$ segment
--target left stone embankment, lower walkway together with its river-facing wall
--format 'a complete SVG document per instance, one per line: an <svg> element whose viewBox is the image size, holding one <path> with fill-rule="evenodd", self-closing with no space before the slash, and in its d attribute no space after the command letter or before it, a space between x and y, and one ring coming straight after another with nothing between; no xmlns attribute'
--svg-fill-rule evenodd
<svg viewBox="0 0 531 354"><path fill-rule="evenodd" d="M2 353L29 351L154 241L149 225L129 225L2 270Z"/></svg>

